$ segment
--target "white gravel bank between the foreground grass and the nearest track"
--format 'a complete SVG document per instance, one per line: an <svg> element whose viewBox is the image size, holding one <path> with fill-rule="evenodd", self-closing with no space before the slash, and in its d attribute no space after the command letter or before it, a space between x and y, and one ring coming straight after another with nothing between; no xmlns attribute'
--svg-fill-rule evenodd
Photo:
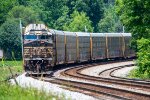
<svg viewBox="0 0 150 100"><path fill-rule="evenodd" d="M43 81L40 81L40 80L33 79L31 77L26 77L25 74L26 73L23 73L22 75L20 75L16 78L18 84L21 87L33 87L33 88L36 88L38 90L44 90L48 93L51 92L52 94L56 94L60 98L62 97L62 95L64 95L65 100L66 99L71 99L71 100L96 100L96 98L85 95L85 94L82 94L82 93L62 89L62 88L60 88L59 85L51 84L49 82L43 82ZM10 81L11 81L12 84L15 84L13 79L11 79Z"/></svg>

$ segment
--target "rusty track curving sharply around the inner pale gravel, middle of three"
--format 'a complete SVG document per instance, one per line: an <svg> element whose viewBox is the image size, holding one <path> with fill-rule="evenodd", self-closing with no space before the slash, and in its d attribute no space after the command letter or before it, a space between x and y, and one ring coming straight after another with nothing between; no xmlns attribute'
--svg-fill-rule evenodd
<svg viewBox="0 0 150 100"><path fill-rule="evenodd" d="M132 65L126 65L127 67L130 67ZM119 66L119 67L115 67L115 68L124 68L126 66ZM90 66L88 66L89 68ZM128 79L112 79L112 78L103 78L103 77L96 77L96 76L90 76L90 75L85 75L82 74L81 71L84 70L86 67L77 67L77 68L71 68L71 69L67 69L65 71L63 71L61 74L64 76L69 76L71 78L78 78L81 80L90 80L93 82L97 82L99 83L108 83L108 84L117 84L120 86L126 86L126 87L133 87L133 88L137 88L140 90L144 90L144 91L148 91L150 92L150 82L145 82L145 81L137 81L137 80L128 80ZM110 68L110 69L114 69L114 68ZM109 70L109 69L107 69ZM115 69L116 70L116 69ZM106 71L106 70L105 70ZM113 70L114 71L114 70ZM110 73L110 75L112 74L112 72Z"/></svg>

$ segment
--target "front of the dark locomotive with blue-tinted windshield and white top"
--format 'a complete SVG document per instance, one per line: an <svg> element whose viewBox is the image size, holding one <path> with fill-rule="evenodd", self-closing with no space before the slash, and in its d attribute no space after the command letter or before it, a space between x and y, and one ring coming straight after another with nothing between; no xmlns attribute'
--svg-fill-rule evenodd
<svg viewBox="0 0 150 100"><path fill-rule="evenodd" d="M52 70L52 44L52 34L43 24L30 24L23 34L25 71L40 73Z"/></svg>

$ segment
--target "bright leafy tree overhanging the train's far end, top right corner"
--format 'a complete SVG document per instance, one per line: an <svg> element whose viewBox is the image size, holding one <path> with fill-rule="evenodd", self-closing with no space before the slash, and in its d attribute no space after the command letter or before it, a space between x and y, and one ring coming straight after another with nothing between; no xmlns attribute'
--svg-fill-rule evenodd
<svg viewBox="0 0 150 100"><path fill-rule="evenodd" d="M137 49L136 40L150 37L150 2L149 0L117 0L116 5L123 24L132 32L134 42L132 44Z"/></svg>

